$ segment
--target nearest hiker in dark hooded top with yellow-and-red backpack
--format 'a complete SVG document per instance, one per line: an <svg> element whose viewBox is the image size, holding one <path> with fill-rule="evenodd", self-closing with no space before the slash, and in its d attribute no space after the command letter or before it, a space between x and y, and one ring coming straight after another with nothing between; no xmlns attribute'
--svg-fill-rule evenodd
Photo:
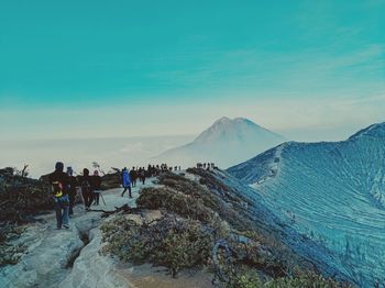
<svg viewBox="0 0 385 288"><path fill-rule="evenodd" d="M48 179L52 186L52 193L55 201L56 211L56 226L62 229L69 228L69 198L68 198L68 176L64 171L64 164L57 162L55 165L55 171L50 174Z"/></svg>

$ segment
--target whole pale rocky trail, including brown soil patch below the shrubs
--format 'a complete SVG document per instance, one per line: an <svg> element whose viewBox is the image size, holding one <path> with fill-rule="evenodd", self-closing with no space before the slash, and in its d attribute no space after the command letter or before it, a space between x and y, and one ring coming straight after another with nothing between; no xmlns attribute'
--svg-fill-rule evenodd
<svg viewBox="0 0 385 288"><path fill-rule="evenodd" d="M113 211L128 203L135 207L139 191L154 186L154 179L145 186L133 188L133 198L121 197L122 188L103 191L103 201L95 210ZM160 211L147 213L160 217ZM201 272L183 272L177 279L167 275L164 268L151 265L133 266L121 263L109 255L102 255L101 212L86 212L81 204L75 208L69 230L56 230L54 212L38 217L40 221L26 226L18 240L28 246L28 253L14 266L0 269L0 287L61 287L61 288L166 288L166 287L212 287L211 276ZM133 218L139 215L132 214Z"/></svg>

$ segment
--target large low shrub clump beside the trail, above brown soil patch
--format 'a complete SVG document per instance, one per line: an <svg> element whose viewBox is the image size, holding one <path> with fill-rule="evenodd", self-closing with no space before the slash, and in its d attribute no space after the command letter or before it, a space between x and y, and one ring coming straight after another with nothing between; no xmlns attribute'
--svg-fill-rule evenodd
<svg viewBox="0 0 385 288"><path fill-rule="evenodd" d="M105 252L120 259L150 262L169 268L172 275L186 267L205 264L210 255L212 236L194 220L166 215L154 223L138 224L121 217L101 228Z"/></svg>

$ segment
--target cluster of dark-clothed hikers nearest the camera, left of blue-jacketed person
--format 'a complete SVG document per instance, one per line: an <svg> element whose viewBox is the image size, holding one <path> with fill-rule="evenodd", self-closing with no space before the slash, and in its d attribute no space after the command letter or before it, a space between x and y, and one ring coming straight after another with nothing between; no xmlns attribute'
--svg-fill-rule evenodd
<svg viewBox="0 0 385 288"><path fill-rule="evenodd" d="M74 214L77 188L81 189L87 211L92 202L99 204L101 177L98 170L95 170L91 176L89 170L85 168L81 176L75 177L72 167L67 167L67 171L64 173L64 164L57 162L55 171L48 175L48 180L55 202L57 229L69 228L69 215Z"/></svg>

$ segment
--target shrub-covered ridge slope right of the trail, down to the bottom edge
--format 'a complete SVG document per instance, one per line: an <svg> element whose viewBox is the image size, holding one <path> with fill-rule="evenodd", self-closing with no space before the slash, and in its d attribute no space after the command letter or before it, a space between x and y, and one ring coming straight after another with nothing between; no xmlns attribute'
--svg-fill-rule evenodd
<svg viewBox="0 0 385 288"><path fill-rule="evenodd" d="M305 267L295 269L290 263L298 256L234 211L223 184L213 177L199 182L162 175L161 186L143 189L136 203L142 214L161 210L163 217L146 222L121 214L106 222L103 252L167 267L173 277L184 268L205 267L228 287L342 287Z"/></svg>

